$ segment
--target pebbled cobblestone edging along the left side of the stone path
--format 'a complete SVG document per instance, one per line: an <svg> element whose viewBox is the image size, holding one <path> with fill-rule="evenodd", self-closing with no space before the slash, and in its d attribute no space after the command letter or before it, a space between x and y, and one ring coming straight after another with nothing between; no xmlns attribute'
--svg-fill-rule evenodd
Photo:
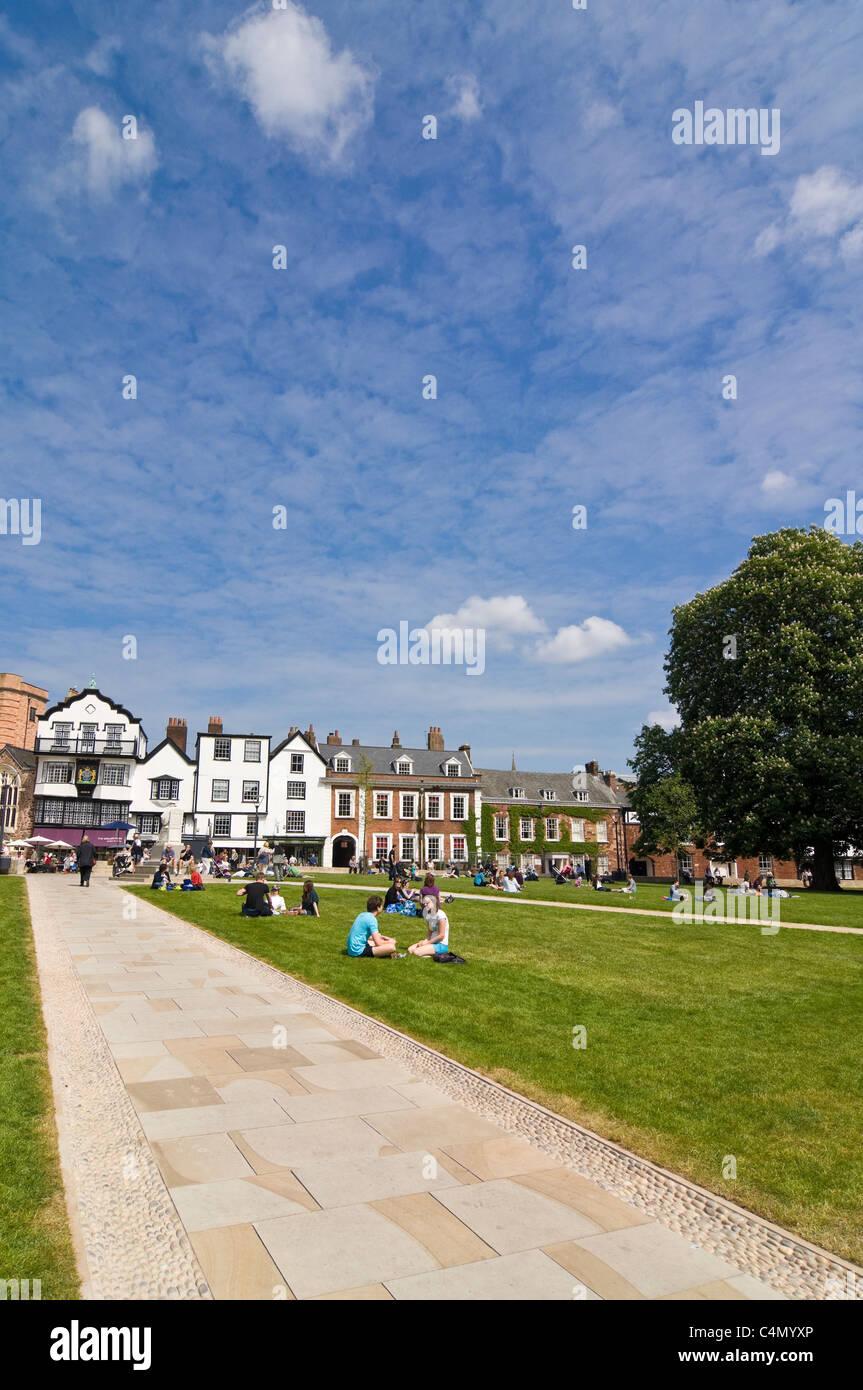
<svg viewBox="0 0 863 1390"><path fill-rule="evenodd" d="M28 884L28 888L31 884ZM49 902L31 917L82 1298L211 1298Z"/></svg>

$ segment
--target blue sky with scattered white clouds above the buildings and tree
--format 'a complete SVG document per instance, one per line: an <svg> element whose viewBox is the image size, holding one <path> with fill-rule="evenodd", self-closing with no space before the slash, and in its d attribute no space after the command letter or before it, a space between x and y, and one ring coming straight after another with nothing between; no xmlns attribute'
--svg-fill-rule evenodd
<svg viewBox="0 0 863 1390"><path fill-rule="evenodd" d="M13 0L3 669L623 769L671 606L863 495L862 58L830 0ZM780 152L675 145L696 100ZM482 677L378 663L441 614Z"/></svg>

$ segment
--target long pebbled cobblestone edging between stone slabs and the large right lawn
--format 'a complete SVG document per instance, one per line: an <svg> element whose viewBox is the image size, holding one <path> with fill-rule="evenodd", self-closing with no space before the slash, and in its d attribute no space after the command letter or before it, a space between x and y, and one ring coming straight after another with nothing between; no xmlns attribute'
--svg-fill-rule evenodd
<svg viewBox="0 0 863 1390"><path fill-rule="evenodd" d="M140 898L136 899L140 903ZM146 908L150 903L145 903ZM164 910L164 909L157 909ZM863 1298L863 1270L792 1236L781 1226L717 1197L663 1168L638 1158L610 1140L593 1134L534 1101L509 1091L478 1072L453 1062L434 1048L416 1042L397 1029L302 984L293 976L265 965L221 937L171 919L200 949L203 937L213 952L236 965L238 958L261 981L277 988L285 1001L302 1001L309 1009L382 1056L400 1062L417 1076L460 1101L477 1115L535 1144L543 1154L591 1179L599 1187L630 1201L648 1216L678 1232L702 1250L737 1265L743 1273L770 1284L788 1298Z"/></svg>

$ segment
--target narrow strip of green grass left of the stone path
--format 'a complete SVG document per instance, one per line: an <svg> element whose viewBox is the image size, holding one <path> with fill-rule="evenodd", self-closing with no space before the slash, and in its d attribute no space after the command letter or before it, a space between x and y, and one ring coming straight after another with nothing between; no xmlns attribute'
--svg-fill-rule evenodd
<svg viewBox="0 0 863 1390"><path fill-rule="evenodd" d="M76 1298L36 962L22 878L0 878L0 1279ZM32 1294L31 1294L32 1297Z"/></svg>

